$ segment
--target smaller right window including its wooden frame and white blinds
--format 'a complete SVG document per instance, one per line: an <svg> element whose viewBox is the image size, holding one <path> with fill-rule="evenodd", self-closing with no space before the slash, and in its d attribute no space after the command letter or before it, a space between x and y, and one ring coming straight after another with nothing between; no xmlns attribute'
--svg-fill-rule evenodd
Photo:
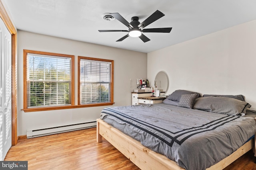
<svg viewBox="0 0 256 170"><path fill-rule="evenodd" d="M113 104L114 61L78 56L78 104Z"/></svg>

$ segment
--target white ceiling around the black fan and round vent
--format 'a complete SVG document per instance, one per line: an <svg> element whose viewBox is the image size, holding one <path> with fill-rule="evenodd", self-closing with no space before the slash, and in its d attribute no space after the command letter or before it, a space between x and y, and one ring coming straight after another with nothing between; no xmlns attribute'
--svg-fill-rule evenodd
<svg viewBox="0 0 256 170"><path fill-rule="evenodd" d="M17 29L144 53L207 35L256 19L256 0L2 0ZM172 27L170 33L144 33L150 41L128 37L118 20L103 20L104 13L119 13L128 22L142 22L156 10L164 17L145 28Z"/></svg>

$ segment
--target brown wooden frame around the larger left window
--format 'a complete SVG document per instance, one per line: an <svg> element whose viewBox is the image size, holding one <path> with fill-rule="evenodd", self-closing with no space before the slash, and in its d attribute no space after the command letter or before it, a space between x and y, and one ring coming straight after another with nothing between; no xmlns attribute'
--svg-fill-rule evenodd
<svg viewBox="0 0 256 170"><path fill-rule="evenodd" d="M49 56L57 56L57 57L68 57L71 58L71 94L70 94L70 100L71 105L69 106L44 106L44 107L33 107L28 108L27 103L27 55L28 53L32 54L38 54L38 55L49 55ZM42 51L33 51L33 50L23 50L23 111L24 112L30 112L30 111L45 111L45 110L57 110L57 109L70 109L74 108L74 55L66 55L66 54L59 54L59 53L48 53L48 52L42 52Z"/></svg>

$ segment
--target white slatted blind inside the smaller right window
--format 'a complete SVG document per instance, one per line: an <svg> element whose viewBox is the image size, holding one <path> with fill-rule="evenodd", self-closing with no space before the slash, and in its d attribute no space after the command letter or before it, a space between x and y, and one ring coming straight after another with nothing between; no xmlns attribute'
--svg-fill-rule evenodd
<svg viewBox="0 0 256 170"><path fill-rule="evenodd" d="M110 102L111 63L80 60L80 104Z"/></svg>

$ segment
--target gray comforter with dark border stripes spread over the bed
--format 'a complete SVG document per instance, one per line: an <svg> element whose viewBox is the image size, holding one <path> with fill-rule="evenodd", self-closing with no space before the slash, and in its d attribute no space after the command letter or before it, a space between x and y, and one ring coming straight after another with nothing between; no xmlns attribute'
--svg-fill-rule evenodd
<svg viewBox="0 0 256 170"><path fill-rule="evenodd" d="M107 107L100 118L186 170L205 170L218 163L256 131L252 117L163 103Z"/></svg>

